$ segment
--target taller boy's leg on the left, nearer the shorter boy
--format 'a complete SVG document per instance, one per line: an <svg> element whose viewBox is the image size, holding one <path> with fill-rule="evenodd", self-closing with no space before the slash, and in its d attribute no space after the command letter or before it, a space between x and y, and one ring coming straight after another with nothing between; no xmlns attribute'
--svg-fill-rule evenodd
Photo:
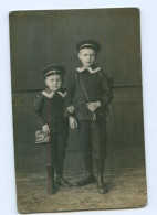
<svg viewBox="0 0 157 215"><path fill-rule="evenodd" d="M90 123L91 121L85 121L85 120L78 121L80 144L84 158L86 174L83 179L81 179L76 183L77 186L83 186L95 182L95 178L93 174L93 158L92 158Z"/></svg>

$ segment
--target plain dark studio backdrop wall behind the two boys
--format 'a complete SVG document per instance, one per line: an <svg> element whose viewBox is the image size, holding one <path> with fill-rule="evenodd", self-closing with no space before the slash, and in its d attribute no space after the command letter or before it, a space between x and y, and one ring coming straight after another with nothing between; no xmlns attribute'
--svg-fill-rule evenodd
<svg viewBox="0 0 157 215"><path fill-rule="evenodd" d="M42 71L55 63L67 76L80 65L76 44L101 44L96 63L114 79L105 169L145 166L139 11L97 9L10 14L11 79L17 173L44 171L34 144L33 103L44 88ZM77 131L70 130L66 171L84 170Z"/></svg>

